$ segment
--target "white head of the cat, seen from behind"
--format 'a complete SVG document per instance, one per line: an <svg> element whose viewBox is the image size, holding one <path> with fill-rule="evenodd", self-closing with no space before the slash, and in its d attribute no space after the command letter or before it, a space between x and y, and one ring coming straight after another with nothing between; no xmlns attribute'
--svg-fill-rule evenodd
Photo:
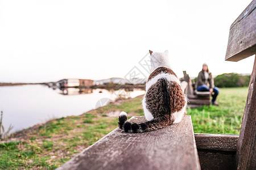
<svg viewBox="0 0 256 170"><path fill-rule="evenodd" d="M149 50L149 52L151 56L151 72L158 67L167 67L171 69L168 50L165 50L163 53L152 52L151 50Z"/></svg>

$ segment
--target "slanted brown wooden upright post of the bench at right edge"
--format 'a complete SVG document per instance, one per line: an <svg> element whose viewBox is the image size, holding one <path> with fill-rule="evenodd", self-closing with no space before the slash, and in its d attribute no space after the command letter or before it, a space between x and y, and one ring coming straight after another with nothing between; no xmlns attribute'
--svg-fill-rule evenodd
<svg viewBox="0 0 256 170"><path fill-rule="evenodd" d="M237 143L237 169L256 169L256 57Z"/></svg>

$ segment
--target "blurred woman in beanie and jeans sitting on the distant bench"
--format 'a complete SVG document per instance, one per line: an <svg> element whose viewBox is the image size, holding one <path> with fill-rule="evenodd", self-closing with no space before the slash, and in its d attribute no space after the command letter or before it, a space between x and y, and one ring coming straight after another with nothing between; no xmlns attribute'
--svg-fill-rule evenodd
<svg viewBox="0 0 256 170"><path fill-rule="evenodd" d="M203 69L199 72L197 76L197 91L209 91L212 94L212 104L218 105L216 98L218 92L220 91L218 87L214 87L212 73L208 69L207 63L203 64Z"/></svg>

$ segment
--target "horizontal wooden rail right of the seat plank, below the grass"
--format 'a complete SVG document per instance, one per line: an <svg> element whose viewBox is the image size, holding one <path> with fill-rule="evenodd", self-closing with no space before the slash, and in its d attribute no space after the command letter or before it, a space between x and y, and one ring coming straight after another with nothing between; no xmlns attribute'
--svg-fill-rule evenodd
<svg viewBox="0 0 256 170"><path fill-rule="evenodd" d="M197 150L204 149L236 152L238 138L239 135L236 134L195 134Z"/></svg>

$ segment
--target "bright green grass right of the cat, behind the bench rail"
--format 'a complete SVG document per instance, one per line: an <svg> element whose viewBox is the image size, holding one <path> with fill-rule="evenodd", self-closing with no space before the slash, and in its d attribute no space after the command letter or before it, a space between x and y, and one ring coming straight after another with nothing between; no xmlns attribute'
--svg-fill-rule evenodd
<svg viewBox="0 0 256 170"><path fill-rule="evenodd" d="M239 134L248 88L221 88L220 106L187 109L195 133Z"/></svg>

